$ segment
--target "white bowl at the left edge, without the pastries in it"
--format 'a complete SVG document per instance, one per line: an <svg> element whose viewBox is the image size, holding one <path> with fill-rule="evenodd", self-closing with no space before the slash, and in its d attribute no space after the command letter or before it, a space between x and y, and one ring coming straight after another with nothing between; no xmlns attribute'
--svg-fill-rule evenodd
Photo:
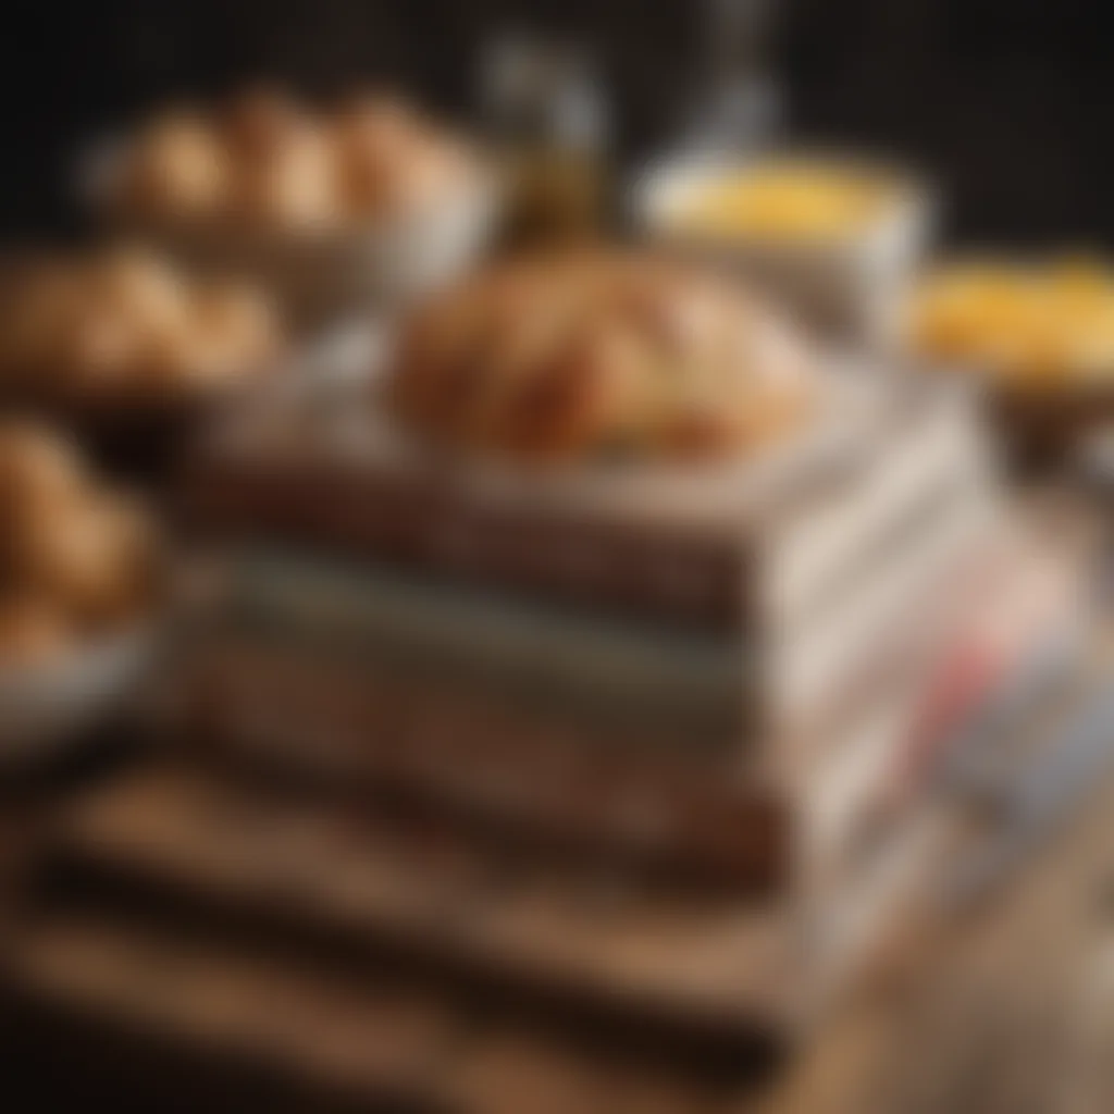
<svg viewBox="0 0 1114 1114"><path fill-rule="evenodd" d="M0 769L45 761L101 725L136 692L158 642L144 625L40 665L0 668Z"/></svg>

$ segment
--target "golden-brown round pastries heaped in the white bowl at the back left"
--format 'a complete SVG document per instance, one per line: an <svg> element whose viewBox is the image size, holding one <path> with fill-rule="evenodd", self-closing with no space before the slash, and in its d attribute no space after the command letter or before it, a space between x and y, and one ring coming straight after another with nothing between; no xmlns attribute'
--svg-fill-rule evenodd
<svg viewBox="0 0 1114 1114"><path fill-rule="evenodd" d="M251 90L150 120L126 145L110 193L119 211L160 224L344 231L426 212L475 170L459 140L392 98L322 111Z"/></svg>

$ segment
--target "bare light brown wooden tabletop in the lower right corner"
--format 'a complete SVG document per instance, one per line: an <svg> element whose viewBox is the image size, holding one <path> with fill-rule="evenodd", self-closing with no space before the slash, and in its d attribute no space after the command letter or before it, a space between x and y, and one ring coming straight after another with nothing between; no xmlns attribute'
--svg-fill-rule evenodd
<svg viewBox="0 0 1114 1114"><path fill-rule="evenodd" d="M1111 675L1108 662L1105 677ZM1096 677L1100 686L1103 677ZM1108 768L1107 768L1108 769ZM957 843L957 861L966 844ZM1114 780L1024 870L896 941L755 1114L1114 1111Z"/></svg>

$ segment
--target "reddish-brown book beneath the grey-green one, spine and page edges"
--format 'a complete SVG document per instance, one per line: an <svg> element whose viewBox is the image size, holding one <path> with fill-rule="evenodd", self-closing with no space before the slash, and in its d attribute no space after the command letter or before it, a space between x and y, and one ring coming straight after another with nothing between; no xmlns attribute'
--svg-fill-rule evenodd
<svg viewBox="0 0 1114 1114"><path fill-rule="evenodd" d="M823 802L849 778L861 781L841 769L866 762L868 778L877 768L885 780L907 744L924 745L915 739L920 692L940 658L958 653L962 613L995 569L1000 561L984 559L954 577L947 609L922 600L925 637L899 631L879 643L844 706L804 735L742 745L622 732L609 721L574 725L459 681L400 676L227 631L178 670L162 723L250 778L281 774L356 799L385 794L535 848L773 893L793 880L808 817L831 811ZM879 764L872 754L890 758ZM853 825L856 807L843 811L841 827Z"/></svg>

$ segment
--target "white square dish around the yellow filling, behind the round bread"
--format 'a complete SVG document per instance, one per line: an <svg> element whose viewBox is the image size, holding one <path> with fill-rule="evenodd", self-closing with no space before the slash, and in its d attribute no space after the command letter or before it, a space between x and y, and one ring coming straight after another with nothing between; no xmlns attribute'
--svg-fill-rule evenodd
<svg viewBox="0 0 1114 1114"><path fill-rule="evenodd" d="M687 231L677 214L686 198L747 166L807 162L862 166L892 182L892 197L877 219L846 236L784 240L740 233L713 236ZM934 224L928 189L892 168L848 156L756 154L747 163L726 158L682 158L644 169L631 202L636 226L651 238L687 254L725 264L786 304L822 335L887 349L896 342L901 310Z"/></svg>

